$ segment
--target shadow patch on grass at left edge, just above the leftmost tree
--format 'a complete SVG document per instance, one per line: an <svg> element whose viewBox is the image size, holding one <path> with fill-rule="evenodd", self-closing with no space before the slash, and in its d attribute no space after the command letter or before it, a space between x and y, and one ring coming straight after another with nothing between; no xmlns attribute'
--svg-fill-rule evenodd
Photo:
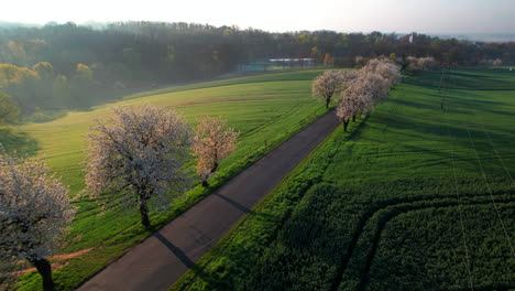
<svg viewBox="0 0 515 291"><path fill-rule="evenodd" d="M41 149L39 142L25 132L0 128L0 144L6 152L17 152L21 155L35 155Z"/></svg>

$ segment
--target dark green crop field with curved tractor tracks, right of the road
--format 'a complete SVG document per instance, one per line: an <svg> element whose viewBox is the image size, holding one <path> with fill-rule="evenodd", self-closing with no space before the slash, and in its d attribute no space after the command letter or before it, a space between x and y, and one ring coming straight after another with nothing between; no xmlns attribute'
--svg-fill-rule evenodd
<svg viewBox="0 0 515 291"><path fill-rule="evenodd" d="M405 76L171 289L515 289L514 112L507 69Z"/></svg>

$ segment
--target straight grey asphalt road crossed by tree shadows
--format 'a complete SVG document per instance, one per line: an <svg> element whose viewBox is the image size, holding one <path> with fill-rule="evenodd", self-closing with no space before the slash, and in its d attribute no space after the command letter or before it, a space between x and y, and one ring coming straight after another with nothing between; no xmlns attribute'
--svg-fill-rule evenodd
<svg viewBox="0 0 515 291"><path fill-rule="evenodd" d="M321 117L78 290L167 290L339 125Z"/></svg>

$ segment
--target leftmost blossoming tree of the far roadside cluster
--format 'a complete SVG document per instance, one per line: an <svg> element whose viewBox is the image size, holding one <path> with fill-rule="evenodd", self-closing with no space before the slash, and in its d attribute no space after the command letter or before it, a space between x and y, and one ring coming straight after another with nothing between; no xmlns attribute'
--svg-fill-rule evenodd
<svg viewBox="0 0 515 291"><path fill-rule="evenodd" d="M331 97L344 85L341 71L326 71L319 75L311 86L313 96L326 101L326 108L329 108Z"/></svg>

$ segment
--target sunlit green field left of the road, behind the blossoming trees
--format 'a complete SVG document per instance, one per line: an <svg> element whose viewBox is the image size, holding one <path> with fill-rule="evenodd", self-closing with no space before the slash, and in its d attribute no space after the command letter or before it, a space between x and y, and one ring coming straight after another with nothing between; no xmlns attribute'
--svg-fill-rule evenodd
<svg viewBox="0 0 515 291"><path fill-rule="evenodd" d="M174 108L193 125L205 115L222 116L240 132L238 149L220 164L210 187L195 186L166 213L152 213L153 229L144 230L136 212L114 207L100 215L96 201L80 197L70 226L66 260L56 263L57 290L69 290L121 256L155 229L198 202L213 188L255 162L292 134L327 112L310 97L311 80L321 71L271 73L157 89L127 96L124 100L97 106L41 123L23 123L0 129L0 142L8 152L43 158L56 176L70 186L75 197L84 187L85 136L95 120L105 121L111 108L140 104ZM189 163L193 170L193 161ZM80 251L80 256L74 256ZM58 268L62 267L62 268ZM19 290L39 290L40 276L31 272L19 281Z"/></svg>

